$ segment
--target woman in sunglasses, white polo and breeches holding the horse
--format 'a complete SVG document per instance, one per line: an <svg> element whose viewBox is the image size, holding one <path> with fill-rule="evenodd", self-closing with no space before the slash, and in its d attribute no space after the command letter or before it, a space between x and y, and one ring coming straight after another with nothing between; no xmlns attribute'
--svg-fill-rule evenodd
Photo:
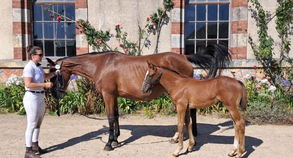
<svg viewBox="0 0 293 158"><path fill-rule="evenodd" d="M46 82L57 73L61 75L59 70L52 73L45 73L39 62L44 56L42 49L37 46L28 46L28 56L30 61L23 69L23 78L25 84L25 95L23 97L23 105L27 116L27 129L25 131L25 158L40 158L36 155L38 153L47 153L38 145L38 137L40 133L40 126L45 114L45 98L44 87L51 88L53 83Z"/></svg>

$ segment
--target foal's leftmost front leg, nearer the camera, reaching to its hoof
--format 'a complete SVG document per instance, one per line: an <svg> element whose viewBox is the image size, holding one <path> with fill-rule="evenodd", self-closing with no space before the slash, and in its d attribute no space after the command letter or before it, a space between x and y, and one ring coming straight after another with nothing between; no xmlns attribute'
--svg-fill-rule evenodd
<svg viewBox="0 0 293 158"><path fill-rule="evenodd" d="M178 141L177 150L173 153L173 157L178 157L179 152L183 149L183 128L184 128L185 111L186 111L186 107L182 107L180 105L177 107L179 141Z"/></svg>

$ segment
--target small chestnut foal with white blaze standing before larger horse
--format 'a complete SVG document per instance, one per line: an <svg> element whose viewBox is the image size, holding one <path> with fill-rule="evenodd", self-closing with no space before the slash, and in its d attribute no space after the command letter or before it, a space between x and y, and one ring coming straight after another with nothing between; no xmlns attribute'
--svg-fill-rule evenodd
<svg viewBox="0 0 293 158"><path fill-rule="evenodd" d="M238 106L240 105L242 111L245 111L247 106L247 90L241 81L228 76L219 76L209 80L195 80L159 68L149 61L147 61L147 65L149 69L144 80L141 79L141 82L143 82L142 92L146 93L153 84L160 83L169 92L171 100L176 106L179 142L173 157L178 157L183 148L184 122L189 135L186 152L191 152L195 144L190 125L190 109L210 107L220 101L229 110L235 129L233 150L228 155L233 157L235 152L238 151L236 158L241 157L245 152L245 121L239 113Z"/></svg>

